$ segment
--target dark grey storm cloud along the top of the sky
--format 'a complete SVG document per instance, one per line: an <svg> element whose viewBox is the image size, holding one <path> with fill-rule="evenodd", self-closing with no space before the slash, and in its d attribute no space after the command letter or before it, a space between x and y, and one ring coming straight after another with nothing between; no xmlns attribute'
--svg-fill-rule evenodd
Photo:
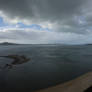
<svg viewBox="0 0 92 92"><path fill-rule="evenodd" d="M0 10L10 18L61 22L80 15L87 0L0 0Z"/></svg>

